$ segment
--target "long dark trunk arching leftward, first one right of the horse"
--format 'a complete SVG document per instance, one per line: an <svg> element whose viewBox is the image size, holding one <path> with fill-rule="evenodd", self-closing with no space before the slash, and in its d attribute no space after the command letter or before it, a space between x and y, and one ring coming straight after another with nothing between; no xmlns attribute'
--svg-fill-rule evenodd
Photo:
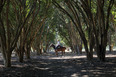
<svg viewBox="0 0 116 77"><path fill-rule="evenodd" d="M79 35L83 41L86 53L87 53L87 59L90 60L90 51L88 49L88 42L87 39L85 37L85 33L82 30L82 23L80 22L80 18L79 18L79 13L77 13L76 8L74 8L74 5L72 4L72 1L66 1L66 4L68 6L68 8L71 10L72 14L69 13L66 9L62 8L57 2L54 1L54 4L56 7L58 7L59 9L62 10L63 13L67 14L67 16L71 19L71 21L73 22L73 24L75 25L76 29L79 32ZM73 15L73 16L72 16Z"/></svg>

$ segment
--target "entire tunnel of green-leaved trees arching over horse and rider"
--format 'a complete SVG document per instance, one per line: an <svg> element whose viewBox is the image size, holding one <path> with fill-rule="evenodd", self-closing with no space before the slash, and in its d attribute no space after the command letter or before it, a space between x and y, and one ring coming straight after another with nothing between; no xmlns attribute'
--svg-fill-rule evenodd
<svg viewBox="0 0 116 77"><path fill-rule="evenodd" d="M0 0L0 53L5 67L12 54L19 62L46 53L59 35L73 52L85 49L87 60L94 51L105 61L106 46L116 42L116 0ZM94 51L93 51L94 50Z"/></svg>

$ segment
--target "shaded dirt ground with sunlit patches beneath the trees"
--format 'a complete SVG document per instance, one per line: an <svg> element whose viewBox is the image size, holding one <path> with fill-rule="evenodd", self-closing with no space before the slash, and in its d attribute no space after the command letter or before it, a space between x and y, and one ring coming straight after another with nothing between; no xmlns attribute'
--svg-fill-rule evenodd
<svg viewBox="0 0 116 77"><path fill-rule="evenodd" d="M0 61L0 77L115 77L115 54L107 57L104 63L96 58L90 62L84 55L73 53L63 57L56 57L54 53L34 56L24 63L13 58L11 68L4 68Z"/></svg>

